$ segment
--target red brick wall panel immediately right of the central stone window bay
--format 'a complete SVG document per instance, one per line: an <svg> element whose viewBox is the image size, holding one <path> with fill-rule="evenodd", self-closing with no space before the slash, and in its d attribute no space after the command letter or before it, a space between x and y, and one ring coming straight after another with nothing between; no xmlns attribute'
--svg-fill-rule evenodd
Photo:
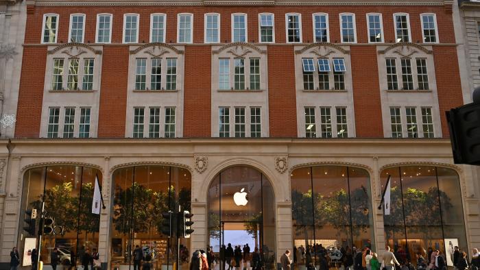
<svg viewBox="0 0 480 270"><path fill-rule="evenodd" d="M268 47L268 116L270 137L297 136L293 46Z"/></svg>

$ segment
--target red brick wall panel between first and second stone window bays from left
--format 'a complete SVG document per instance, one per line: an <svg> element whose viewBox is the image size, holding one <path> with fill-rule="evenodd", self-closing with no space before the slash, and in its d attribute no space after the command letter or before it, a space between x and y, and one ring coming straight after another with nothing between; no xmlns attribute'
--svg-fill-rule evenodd
<svg viewBox="0 0 480 270"><path fill-rule="evenodd" d="M128 47L105 46L102 56L98 137L125 137Z"/></svg>

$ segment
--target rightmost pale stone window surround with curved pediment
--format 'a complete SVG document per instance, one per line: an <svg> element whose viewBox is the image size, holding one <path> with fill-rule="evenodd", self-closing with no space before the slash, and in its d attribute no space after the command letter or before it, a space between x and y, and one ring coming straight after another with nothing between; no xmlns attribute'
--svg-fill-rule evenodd
<svg viewBox="0 0 480 270"><path fill-rule="evenodd" d="M419 125L419 137L422 138L420 132L421 119L419 115L422 107L431 108L433 119L434 137L442 137L442 128L440 123L440 108L437 97L437 84L435 79L435 63L433 62L433 51L430 45L417 45L410 42L399 42L394 45L378 45L377 47L377 62L379 63L379 81L380 81L380 97L382 106L383 119L383 134L385 138L392 137L392 129L390 125L390 107L400 107L402 115L402 125L406 127L405 107L416 107L417 109L417 123ZM401 81L401 58L411 58L413 86L417 88L418 78L416 73L416 58L424 58L427 60L427 72L429 77L430 90L387 90L387 68L385 58L395 58L397 66L398 84ZM402 132L405 127L403 126ZM403 136L407 136L407 132Z"/></svg>

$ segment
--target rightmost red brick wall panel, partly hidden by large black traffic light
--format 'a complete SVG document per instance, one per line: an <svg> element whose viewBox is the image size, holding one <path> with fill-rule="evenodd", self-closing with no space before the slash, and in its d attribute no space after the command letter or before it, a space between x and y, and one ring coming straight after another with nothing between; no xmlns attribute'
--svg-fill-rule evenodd
<svg viewBox="0 0 480 270"><path fill-rule="evenodd" d="M464 99L461 95L461 82L457 61L457 47L433 47L435 61L435 77L437 81L438 106L442 119L442 135L450 136L445 112L451 108L461 106Z"/></svg>

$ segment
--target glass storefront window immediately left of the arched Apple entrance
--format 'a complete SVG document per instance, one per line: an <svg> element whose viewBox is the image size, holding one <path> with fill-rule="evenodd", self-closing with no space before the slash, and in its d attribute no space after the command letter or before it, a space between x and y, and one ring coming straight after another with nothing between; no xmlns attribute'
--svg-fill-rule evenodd
<svg viewBox="0 0 480 270"><path fill-rule="evenodd" d="M155 269L187 269L190 238L162 234L162 212L191 211L191 174L169 166L118 169L112 177L111 267L132 269L134 249L152 257ZM175 234L176 235L176 234ZM187 267L187 268L184 268Z"/></svg>

